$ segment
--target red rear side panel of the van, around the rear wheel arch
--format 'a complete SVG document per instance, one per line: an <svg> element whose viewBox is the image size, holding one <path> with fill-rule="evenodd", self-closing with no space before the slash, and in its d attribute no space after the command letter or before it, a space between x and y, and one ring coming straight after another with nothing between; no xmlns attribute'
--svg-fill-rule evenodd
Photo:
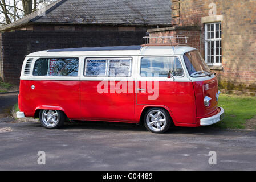
<svg viewBox="0 0 256 182"><path fill-rule="evenodd" d="M79 81L21 80L19 109L26 117L34 117L36 109L55 108L69 119L80 119Z"/></svg>

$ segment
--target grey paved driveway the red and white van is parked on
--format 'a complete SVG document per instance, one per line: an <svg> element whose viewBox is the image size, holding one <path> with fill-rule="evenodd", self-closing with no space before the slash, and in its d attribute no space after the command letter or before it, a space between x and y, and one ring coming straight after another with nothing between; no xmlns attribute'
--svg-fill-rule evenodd
<svg viewBox="0 0 256 182"><path fill-rule="evenodd" d="M0 169L255 170L256 132L175 128L153 134L133 124L82 122L59 130L40 123L1 122ZM39 165L38 151L46 154ZM217 164L210 165L210 151Z"/></svg>

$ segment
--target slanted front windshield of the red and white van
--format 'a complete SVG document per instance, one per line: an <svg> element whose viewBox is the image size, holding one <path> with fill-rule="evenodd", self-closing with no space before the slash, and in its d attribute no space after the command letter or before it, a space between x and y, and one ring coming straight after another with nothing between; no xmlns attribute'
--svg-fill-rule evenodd
<svg viewBox="0 0 256 182"><path fill-rule="evenodd" d="M205 60L202 58L199 51L191 51L184 54L184 61L189 75L192 77L211 76L213 72L210 71Z"/></svg>

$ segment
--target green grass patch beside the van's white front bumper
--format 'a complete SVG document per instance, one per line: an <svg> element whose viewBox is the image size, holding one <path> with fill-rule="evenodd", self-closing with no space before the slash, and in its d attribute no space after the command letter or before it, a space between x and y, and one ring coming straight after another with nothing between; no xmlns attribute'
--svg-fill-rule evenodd
<svg viewBox="0 0 256 182"><path fill-rule="evenodd" d="M225 117L214 125L217 127L244 129L247 120L256 116L255 96L220 94L219 106L224 108Z"/></svg>

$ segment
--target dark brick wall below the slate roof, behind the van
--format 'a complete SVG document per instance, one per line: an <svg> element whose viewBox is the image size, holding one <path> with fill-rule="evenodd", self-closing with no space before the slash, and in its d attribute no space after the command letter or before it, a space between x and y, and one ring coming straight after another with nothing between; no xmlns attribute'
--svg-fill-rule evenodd
<svg viewBox="0 0 256 182"><path fill-rule="evenodd" d="M26 55L35 51L70 47L138 45L144 43L145 34L145 31L3 32L0 34L1 77L5 82L19 84L23 60Z"/></svg>

